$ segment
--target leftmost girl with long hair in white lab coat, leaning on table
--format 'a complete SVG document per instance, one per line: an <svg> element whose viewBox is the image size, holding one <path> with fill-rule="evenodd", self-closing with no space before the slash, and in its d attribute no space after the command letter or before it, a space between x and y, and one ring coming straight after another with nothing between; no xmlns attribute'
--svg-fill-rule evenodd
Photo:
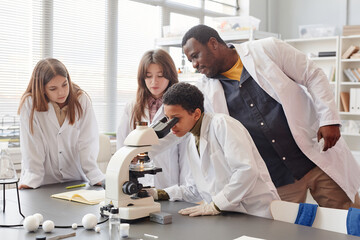
<svg viewBox="0 0 360 240"><path fill-rule="evenodd" d="M100 184L99 135L90 99L71 81L65 65L40 60L18 109L21 177L19 189L87 180Z"/></svg>

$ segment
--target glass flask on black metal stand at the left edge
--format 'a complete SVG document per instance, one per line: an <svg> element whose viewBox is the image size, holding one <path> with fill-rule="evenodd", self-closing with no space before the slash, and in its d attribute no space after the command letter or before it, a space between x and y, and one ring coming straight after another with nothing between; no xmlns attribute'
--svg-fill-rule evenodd
<svg viewBox="0 0 360 240"><path fill-rule="evenodd" d="M2 210L3 212L5 212L5 205L6 205L5 186L7 184L15 184L19 213L23 218L25 218L25 216L21 213L20 197L19 197L19 189L18 189L19 179L16 175L14 164L8 152L8 142L0 142L0 151L1 151L0 152L0 184L3 185Z"/></svg>

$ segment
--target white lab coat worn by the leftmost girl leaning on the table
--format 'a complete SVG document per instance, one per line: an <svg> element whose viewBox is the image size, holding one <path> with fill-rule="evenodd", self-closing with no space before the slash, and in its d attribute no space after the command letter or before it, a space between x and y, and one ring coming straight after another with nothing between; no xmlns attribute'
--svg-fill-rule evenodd
<svg viewBox="0 0 360 240"><path fill-rule="evenodd" d="M85 94L79 97L83 115L73 125L65 119L60 127L53 105L47 112L34 112L30 133L32 108L28 97L20 112L20 184L37 188L44 184L72 180L88 180L96 184L105 176L97 166L99 132L91 102Z"/></svg>

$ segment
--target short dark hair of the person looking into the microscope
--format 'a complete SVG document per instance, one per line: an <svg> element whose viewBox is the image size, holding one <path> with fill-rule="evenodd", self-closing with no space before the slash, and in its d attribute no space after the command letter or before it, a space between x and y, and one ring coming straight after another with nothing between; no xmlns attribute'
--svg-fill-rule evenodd
<svg viewBox="0 0 360 240"><path fill-rule="evenodd" d="M164 105L180 105L189 113L197 108L204 112L204 95L194 85L189 83L177 83L172 85L163 95Z"/></svg>

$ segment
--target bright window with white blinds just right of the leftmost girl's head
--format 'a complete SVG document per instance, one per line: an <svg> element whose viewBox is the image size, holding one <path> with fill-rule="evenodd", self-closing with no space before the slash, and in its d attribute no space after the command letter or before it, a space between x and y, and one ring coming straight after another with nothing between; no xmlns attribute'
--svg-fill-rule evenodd
<svg viewBox="0 0 360 240"><path fill-rule="evenodd" d="M92 101L100 131L106 129L106 4L102 0L55 0L53 57Z"/></svg>

